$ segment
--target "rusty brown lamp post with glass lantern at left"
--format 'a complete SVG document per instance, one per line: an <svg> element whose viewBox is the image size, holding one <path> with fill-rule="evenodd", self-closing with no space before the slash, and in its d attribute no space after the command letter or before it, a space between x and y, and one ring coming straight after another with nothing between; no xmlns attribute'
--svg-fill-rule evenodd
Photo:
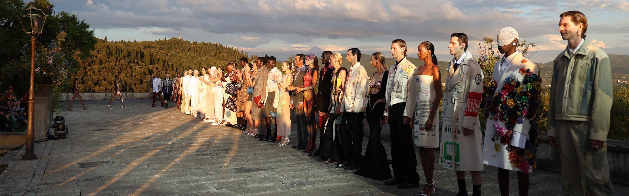
<svg viewBox="0 0 629 196"><path fill-rule="evenodd" d="M33 100L33 94L35 94L35 38L42 34L43 24L46 22L46 14L42 9L35 8L35 1L28 3L28 8L22 11L22 15L18 16L19 23L22 24L22 28L28 36L31 37L31 80L28 91L28 129L26 129L26 153L22 155L22 160L34 160L36 158L33 153L33 142L35 136L33 135L33 115L35 115L35 101Z"/></svg>

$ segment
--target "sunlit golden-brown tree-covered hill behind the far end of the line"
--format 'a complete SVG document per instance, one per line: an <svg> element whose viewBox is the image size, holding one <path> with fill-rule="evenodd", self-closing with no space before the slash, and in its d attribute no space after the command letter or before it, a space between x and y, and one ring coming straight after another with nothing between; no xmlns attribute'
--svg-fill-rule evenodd
<svg viewBox="0 0 629 196"><path fill-rule="evenodd" d="M179 40L107 41L98 40L92 57L79 60L81 68L72 77L81 78L79 88L86 92L110 92L114 75L120 75L124 92L148 92L152 75L173 74L187 68L225 67L230 60L247 52L218 43ZM174 76L173 76L174 77Z"/></svg>

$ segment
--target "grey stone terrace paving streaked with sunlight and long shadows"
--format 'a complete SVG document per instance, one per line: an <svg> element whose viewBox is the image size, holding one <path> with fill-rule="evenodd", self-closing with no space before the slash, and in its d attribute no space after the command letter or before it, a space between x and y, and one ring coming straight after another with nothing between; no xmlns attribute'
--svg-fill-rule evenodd
<svg viewBox="0 0 629 196"><path fill-rule="evenodd" d="M68 138L36 143L36 160L19 160L23 150L5 155L13 158L2 157L12 164L0 175L0 195L415 195L420 191L398 190L353 175L290 146L211 126L176 108L150 107L150 99L126 100L128 109L121 109L119 103L114 101L114 109L107 109L108 101L86 101L88 110L75 106L75 111L63 111ZM389 142L383 143L390 152ZM451 171L435 166L435 195L456 195ZM421 171L418 164L424 182ZM518 192L515 176L512 172L513 195ZM559 173L535 170L530 181L531 195L561 195ZM484 195L499 195L496 168L485 167L482 183ZM467 185L471 191L469 177ZM614 184L614 189L618 195L629 194L625 186Z"/></svg>

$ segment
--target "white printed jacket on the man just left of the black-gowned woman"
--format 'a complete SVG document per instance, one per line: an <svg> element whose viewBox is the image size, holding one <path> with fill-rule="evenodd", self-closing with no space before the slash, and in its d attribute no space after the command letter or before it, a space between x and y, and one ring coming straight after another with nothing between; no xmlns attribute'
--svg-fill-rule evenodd
<svg viewBox="0 0 629 196"><path fill-rule="evenodd" d="M354 64L350 68L347 85L345 86L345 94L343 94L342 104L347 112L366 112L367 111L367 71L360 62Z"/></svg>

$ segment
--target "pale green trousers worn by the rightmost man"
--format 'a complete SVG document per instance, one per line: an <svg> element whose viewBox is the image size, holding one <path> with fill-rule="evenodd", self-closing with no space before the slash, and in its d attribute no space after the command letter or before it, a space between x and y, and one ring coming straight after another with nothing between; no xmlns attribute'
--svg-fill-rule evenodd
<svg viewBox="0 0 629 196"><path fill-rule="evenodd" d="M557 121L564 195L613 195L607 143L591 150L589 122Z"/></svg>

